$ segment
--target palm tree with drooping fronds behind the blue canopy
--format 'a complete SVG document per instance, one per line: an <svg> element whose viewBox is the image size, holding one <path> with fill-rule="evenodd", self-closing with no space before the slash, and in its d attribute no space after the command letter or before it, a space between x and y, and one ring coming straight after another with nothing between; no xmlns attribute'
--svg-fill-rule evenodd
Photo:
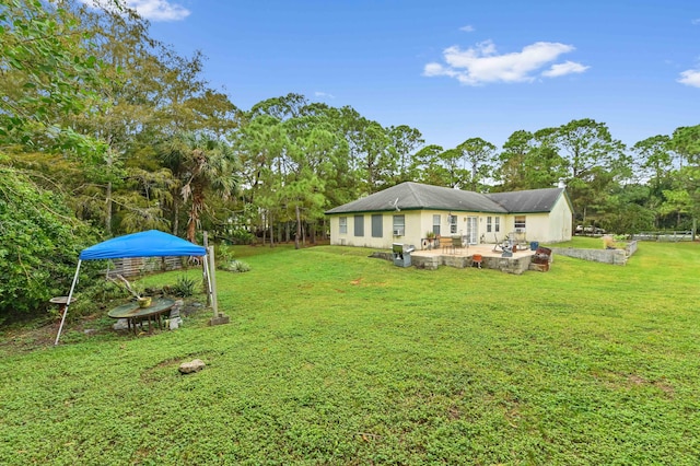
<svg viewBox="0 0 700 466"><path fill-rule="evenodd" d="M203 133L180 133L163 145L162 159L180 180L180 195L189 201L187 241L195 241L207 196L213 191L228 199L237 188L237 162L230 145ZM210 196L210 194L209 194Z"/></svg>

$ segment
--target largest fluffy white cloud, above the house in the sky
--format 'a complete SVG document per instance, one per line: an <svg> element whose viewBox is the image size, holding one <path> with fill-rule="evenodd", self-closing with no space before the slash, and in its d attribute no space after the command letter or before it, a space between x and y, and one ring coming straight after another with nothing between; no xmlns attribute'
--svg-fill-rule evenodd
<svg viewBox="0 0 700 466"><path fill-rule="evenodd" d="M443 50L446 62L428 63L423 69L427 77L446 75L457 79L467 85L479 85L492 82L532 82L538 70L557 60L560 55L573 51L571 45L538 42L523 47L522 51L499 55L495 45L486 40L466 50L452 46ZM560 77L571 72L583 72L588 67L568 61L553 65L541 73L548 78Z"/></svg>

